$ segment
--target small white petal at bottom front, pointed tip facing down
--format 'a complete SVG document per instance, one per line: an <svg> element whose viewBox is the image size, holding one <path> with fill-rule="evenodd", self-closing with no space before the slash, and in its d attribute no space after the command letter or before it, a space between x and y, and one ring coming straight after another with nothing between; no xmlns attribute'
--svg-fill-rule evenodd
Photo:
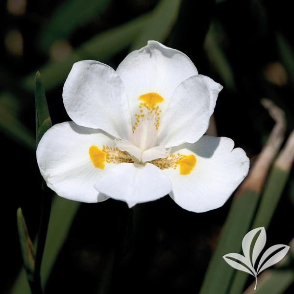
<svg viewBox="0 0 294 294"><path fill-rule="evenodd" d="M159 199L172 190L169 178L156 166L121 163L98 180L95 188L130 206Z"/></svg>

